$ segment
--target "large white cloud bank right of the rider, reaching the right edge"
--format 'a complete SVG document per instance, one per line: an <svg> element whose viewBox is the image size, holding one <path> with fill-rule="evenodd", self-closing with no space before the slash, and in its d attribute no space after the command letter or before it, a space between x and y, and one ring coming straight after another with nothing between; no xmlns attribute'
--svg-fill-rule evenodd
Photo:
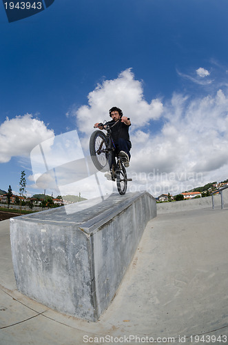
<svg viewBox="0 0 228 345"><path fill-rule="evenodd" d="M174 94L164 106L160 133L145 137L144 143L132 138L136 182L141 184L138 177L144 172L147 189L159 195L227 179L227 106L228 95L222 90L198 99Z"/></svg>

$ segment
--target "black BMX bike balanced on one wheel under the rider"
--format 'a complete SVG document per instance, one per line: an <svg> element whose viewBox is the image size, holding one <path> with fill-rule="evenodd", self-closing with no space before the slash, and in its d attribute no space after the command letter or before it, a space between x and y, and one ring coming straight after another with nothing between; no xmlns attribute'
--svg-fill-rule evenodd
<svg viewBox="0 0 228 345"><path fill-rule="evenodd" d="M98 125L107 131L106 135L101 130L92 132L90 137L90 155L96 169L102 172L110 170L112 181L116 180L118 193L124 195L127 191L127 181L132 181L132 179L127 179L125 166L121 157L118 155L118 150L116 149L111 135L111 128L114 127L118 121L112 126L107 126L102 123Z"/></svg>

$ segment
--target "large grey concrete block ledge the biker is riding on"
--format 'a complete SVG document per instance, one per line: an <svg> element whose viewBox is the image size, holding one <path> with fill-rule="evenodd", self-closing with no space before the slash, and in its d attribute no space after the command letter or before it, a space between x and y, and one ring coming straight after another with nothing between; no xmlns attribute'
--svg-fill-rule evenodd
<svg viewBox="0 0 228 345"><path fill-rule="evenodd" d="M112 194L91 207L83 201L70 213L62 207L12 218L17 289L61 313L96 321L153 217L156 200L142 192Z"/></svg>

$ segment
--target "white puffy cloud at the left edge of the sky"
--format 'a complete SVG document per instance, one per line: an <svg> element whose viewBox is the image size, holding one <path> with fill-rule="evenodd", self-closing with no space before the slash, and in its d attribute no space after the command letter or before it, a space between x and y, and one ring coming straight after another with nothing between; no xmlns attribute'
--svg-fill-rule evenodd
<svg viewBox="0 0 228 345"><path fill-rule="evenodd" d="M27 157L34 146L53 136L53 130L30 114L6 118L0 126L0 162L6 163L13 156Z"/></svg>

